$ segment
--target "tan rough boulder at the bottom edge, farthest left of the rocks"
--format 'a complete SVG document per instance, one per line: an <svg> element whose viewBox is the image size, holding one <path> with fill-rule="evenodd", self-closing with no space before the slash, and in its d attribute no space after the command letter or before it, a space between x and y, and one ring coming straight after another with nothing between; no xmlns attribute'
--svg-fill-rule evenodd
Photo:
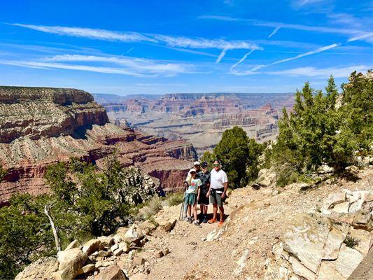
<svg viewBox="0 0 373 280"><path fill-rule="evenodd" d="M56 258L39 258L36 262L32 262L29 266L25 267L22 272L18 273L17 276L15 276L15 280L50 279L52 273L57 272L57 269L58 261Z"/></svg>

